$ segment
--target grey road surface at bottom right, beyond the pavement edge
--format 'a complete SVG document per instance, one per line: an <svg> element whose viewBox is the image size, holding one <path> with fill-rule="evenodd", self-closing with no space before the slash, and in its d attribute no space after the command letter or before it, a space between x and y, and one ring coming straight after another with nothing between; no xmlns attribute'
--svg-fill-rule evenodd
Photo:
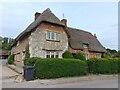
<svg viewBox="0 0 120 90"><path fill-rule="evenodd" d="M43 88L118 88L117 79L95 80L77 83L57 84Z"/></svg>

